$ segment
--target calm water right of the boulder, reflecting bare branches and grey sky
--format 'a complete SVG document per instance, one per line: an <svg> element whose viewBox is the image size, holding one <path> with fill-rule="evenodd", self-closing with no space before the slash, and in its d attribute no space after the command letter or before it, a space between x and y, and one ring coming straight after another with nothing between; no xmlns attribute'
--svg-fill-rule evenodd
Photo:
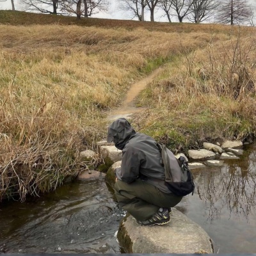
<svg viewBox="0 0 256 256"><path fill-rule="evenodd" d="M256 148L222 167L194 172L196 193L179 205L214 241L215 252L256 252Z"/></svg>

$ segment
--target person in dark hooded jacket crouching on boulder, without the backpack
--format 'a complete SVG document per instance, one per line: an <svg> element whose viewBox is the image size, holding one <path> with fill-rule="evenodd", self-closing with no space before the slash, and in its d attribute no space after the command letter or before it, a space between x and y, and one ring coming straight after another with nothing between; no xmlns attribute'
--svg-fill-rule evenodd
<svg viewBox="0 0 256 256"><path fill-rule="evenodd" d="M125 118L108 127L108 142L122 150L121 168L116 168L115 195L118 204L141 226L170 222L171 207L182 196L174 195L165 184L164 167L156 141L134 131Z"/></svg>

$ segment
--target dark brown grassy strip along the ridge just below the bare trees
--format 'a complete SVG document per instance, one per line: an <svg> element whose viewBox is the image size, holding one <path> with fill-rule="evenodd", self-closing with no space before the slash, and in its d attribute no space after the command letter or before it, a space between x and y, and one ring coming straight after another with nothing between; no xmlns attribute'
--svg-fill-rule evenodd
<svg viewBox="0 0 256 256"><path fill-rule="evenodd" d="M76 25L86 27L99 28L124 28L126 30L147 29L149 31L163 31L163 32L179 32L189 33L204 31L207 33L234 33L237 31L236 27L223 26L218 24L192 24L192 23L176 23L172 22L138 22L136 20L114 20L114 19L97 19L89 18L77 20L76 17L66 17L61 15L48 15L41 13L28 13L10 10L0 10L0 24L8 24L13 26L30 26L30 25ZM243 28L246 31L253 31L253 28Z"/></svg>

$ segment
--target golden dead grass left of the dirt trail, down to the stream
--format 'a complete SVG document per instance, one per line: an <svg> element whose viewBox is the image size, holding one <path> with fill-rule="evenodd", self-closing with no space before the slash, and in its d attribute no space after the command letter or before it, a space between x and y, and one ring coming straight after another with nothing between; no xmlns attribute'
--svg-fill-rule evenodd
<svg viewBox="0 0 256 256"><path fill-rule="evenodd" d="M104 138L104 111L122 102L132 81L150 71L148 63L156 67L156 60L228 40L227 31L58 25L1 25L0 35L0 191L20 200L54 189L88 166L79 152ZM172 79L187 87L191 78Z"/></svg>

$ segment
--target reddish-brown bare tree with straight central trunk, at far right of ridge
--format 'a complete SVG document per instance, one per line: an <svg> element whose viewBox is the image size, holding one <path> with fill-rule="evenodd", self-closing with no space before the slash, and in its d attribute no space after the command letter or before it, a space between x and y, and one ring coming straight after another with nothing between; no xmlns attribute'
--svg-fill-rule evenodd
<svg viewBox="0 0 256 256"><path fill-rule="evenodd" d="M225 0L218 8L218 21L224 24L241 24L250 19L253 12L248 4L248 0Z"/></svg>

